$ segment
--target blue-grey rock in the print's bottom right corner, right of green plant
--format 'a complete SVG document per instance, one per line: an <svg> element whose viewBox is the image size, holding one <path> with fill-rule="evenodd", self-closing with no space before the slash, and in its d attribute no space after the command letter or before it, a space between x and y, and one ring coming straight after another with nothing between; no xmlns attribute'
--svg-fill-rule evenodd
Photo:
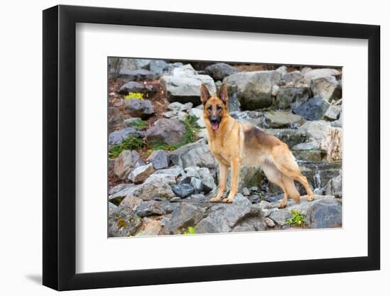
<svg viewBox="0 0 390 296"><path fill-rule="evenodd" d="M308 216L306 224L311 228L333 228L341 226L342 223L341 204L328 204L323 201L313 204Z"/></svg>

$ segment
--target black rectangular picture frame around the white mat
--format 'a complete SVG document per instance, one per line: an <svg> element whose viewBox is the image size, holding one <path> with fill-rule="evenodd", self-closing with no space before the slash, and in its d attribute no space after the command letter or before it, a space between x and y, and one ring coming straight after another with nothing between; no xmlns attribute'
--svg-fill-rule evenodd
<svg viewBox="0 0 390 296"><path fill-rule="evenodd" d="M368 40L368 256L101 273L76 267L76 23ZM380 27L165 11L55 6L43 11L43 285L79 290L380 268Z"/></svg>

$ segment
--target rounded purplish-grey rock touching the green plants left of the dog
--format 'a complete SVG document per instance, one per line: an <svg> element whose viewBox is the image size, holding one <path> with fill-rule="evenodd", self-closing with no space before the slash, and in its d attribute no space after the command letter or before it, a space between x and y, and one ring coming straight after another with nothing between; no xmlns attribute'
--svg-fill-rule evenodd
<svg viewBox="0 0 390 296"><path fill-rule="evenodd" d="M149 143L163 143L177 145L184 141L186 127L177 119L159 119L155 126L149 128L145 138Z"/></svg>

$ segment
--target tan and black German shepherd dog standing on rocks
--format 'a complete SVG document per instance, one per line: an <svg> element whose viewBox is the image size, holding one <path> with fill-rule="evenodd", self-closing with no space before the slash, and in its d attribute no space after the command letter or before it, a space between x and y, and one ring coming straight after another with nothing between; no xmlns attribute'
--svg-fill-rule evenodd
<svg viewBox="0 0 390 296"><path fill-rule="evenodd" d="M238 187L241 166L261 166L268 180L282 188L284 196L278 207L286 207L287 197L299 202L301 197L294 180L300 182L313 200L308 181L301 174L286 143L255 126L243 124L228 114L228 88L221 85L217 96L211 96L201 84L201 102L204 105L204 122L208 134L208 147L219 166L219 188L211 202L233 202ZM230 193L222 199L226 189L228 168L231 170Z"/></svg>

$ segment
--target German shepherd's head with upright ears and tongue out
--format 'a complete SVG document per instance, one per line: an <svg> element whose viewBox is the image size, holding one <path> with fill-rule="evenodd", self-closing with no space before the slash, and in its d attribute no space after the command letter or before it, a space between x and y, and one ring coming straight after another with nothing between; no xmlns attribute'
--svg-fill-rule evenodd
<svg viewBox="0 0 390 296"><path fill-rule="evenodd" d="M228 114L228 87L221 85L217 96L211 96L206 85L201 84L201 102L204 106L203 114L206 125L217 131L222 119Z"/></svg>

